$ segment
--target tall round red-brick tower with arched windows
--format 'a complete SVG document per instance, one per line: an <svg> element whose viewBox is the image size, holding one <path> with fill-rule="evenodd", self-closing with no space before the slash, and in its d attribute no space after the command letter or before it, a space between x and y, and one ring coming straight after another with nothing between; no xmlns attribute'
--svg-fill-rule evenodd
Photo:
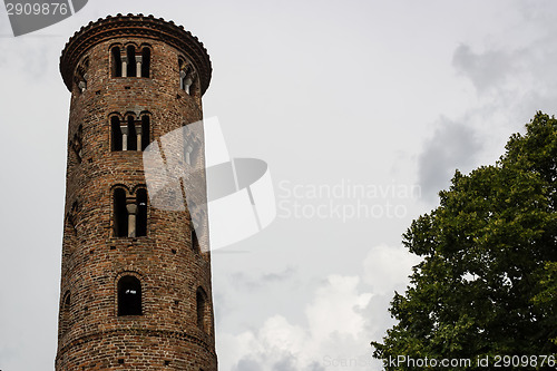
<svg viewBox="0 0 557 371"><path fill-rule="evenodd" d="M207 51L172 21L118 14L76 32L60 71L71 104L56 370L216 371L209 253L187 207L152 205L143 164L149 144L202 119Z"/></svg>

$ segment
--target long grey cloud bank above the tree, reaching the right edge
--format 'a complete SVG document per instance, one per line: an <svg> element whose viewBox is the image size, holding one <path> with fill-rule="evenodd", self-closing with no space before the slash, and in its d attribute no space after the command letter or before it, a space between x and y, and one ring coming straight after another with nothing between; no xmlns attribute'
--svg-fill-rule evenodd
<svg viewBox="0 0 557 371"><path fill-rule="evenodd" d="M472 105L456 118L441 117L424 141L418 157L424 201L437 201L457 168L471 170L480 165L478 158L495 163L510 134L522 130L537 110L555 114L557 28L550 12L541 9L521 9L522 28L505 29L489 45L461 43L455 49L452 67L475 87L468 96Z"/></svg>

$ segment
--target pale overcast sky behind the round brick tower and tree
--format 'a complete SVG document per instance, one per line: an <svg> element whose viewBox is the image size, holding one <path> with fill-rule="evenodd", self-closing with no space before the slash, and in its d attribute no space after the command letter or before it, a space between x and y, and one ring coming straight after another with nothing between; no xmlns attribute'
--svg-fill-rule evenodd
<svg viewBox="0 0 557 371"><path fill-rule="evenodd" d="M0 370L53 370L70 94L81 26L153 13L213 62L234 157L268 165L276 218L214 251L221 371L380 370L370 341L419 258L401 244L456 169L495 164L557 110L549 0L91 0L14 38L0 9Z"/></svg>

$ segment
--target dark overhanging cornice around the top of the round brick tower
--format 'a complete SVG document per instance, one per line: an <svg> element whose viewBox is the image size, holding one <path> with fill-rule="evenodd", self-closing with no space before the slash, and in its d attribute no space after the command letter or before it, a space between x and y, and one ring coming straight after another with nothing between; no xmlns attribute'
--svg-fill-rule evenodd
<svg viewBox="0 0 557 371"><path fill-rule="evenodd" d="M184 27L176 26L173 21L165 21L163 18L117 14L89 22L74 33L66 43L60 56L60 72L70 91L74 70L81 56L96 43L121 37L159 40L180 50L197 68L202 94L207 90L212 74L211 59L197 37L184 30Z"/></svg>

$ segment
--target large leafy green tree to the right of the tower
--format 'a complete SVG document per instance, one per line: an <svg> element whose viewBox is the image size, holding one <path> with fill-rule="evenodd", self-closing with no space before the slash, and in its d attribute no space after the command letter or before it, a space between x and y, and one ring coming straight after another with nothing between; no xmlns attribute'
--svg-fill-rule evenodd
<svg viewBox="0 0 557 371"><path fill-rule="evenodd" d="M538 113L526 129L510 137L495 166L457 170L449 191L439 193L440 206L403 235L422 261L405 293L394 293L389 311L398 323L383 343L371 343L385 370L434 365L389 364L402 355L469 359L468 369L486 357L491 367L496 355L555 357L557 119ZM541 358L527 364L515 358L514 365L531 367L535 359L540 367Z"/></svg>

